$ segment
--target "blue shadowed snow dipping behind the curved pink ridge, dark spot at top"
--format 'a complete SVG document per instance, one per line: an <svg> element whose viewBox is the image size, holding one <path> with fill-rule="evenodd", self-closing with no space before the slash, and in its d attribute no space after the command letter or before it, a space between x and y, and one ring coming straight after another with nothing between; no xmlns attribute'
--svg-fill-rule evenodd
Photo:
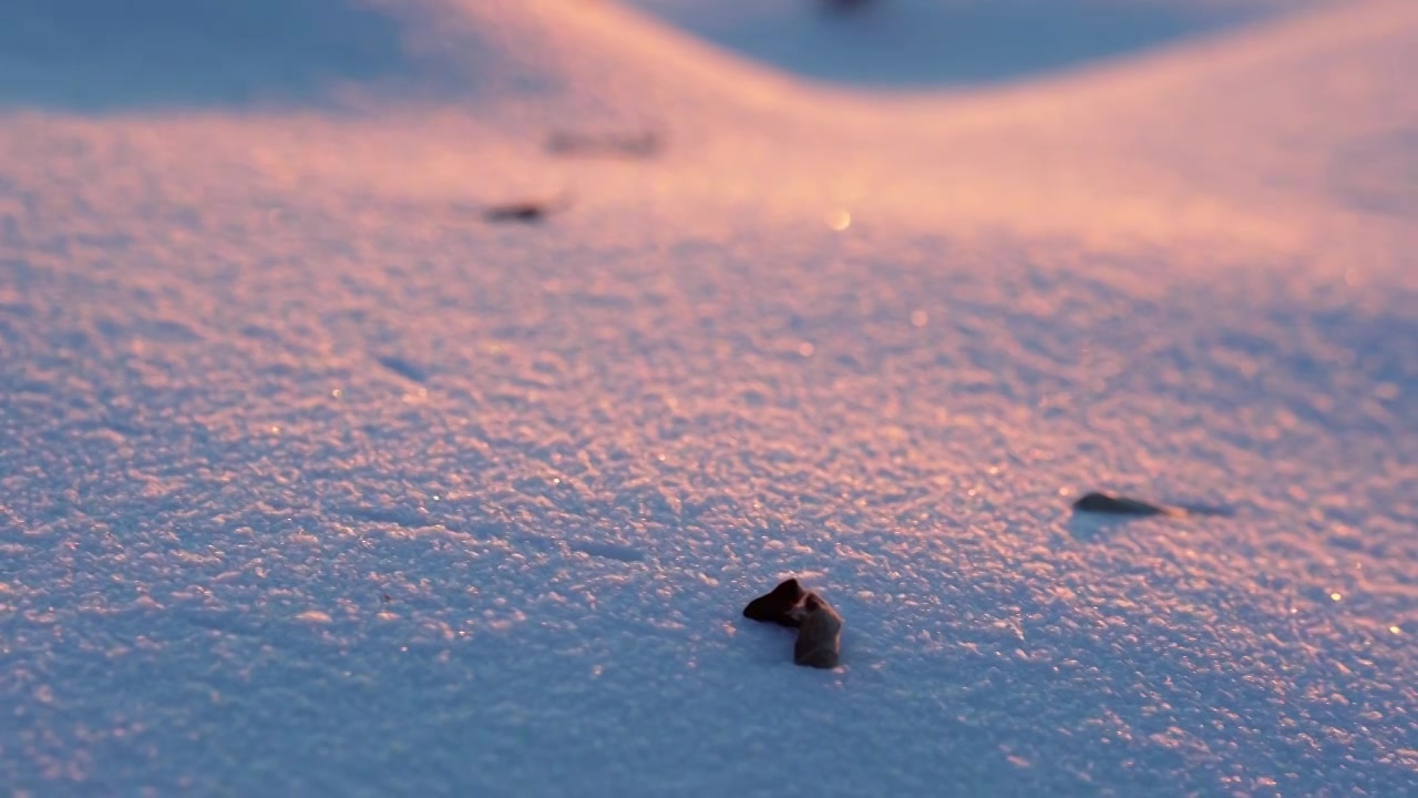
<svg viewBox="0 0 1418 798"><path fill-rule="evenodd" d="M632 0L722 47L821 81L920 88L1024 78L1201 35L1254 13L1180 3Z"/></svg>

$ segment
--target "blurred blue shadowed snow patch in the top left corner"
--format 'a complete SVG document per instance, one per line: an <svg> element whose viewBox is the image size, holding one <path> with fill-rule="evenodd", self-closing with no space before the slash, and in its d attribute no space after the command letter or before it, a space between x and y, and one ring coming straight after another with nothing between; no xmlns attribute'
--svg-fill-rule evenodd
<svg viewBox="0 0 1418 798"><path fill-rule="evenodd" d="M0 105L311 101L411 80L401 26L352 0L6 0Z"/></svg>

